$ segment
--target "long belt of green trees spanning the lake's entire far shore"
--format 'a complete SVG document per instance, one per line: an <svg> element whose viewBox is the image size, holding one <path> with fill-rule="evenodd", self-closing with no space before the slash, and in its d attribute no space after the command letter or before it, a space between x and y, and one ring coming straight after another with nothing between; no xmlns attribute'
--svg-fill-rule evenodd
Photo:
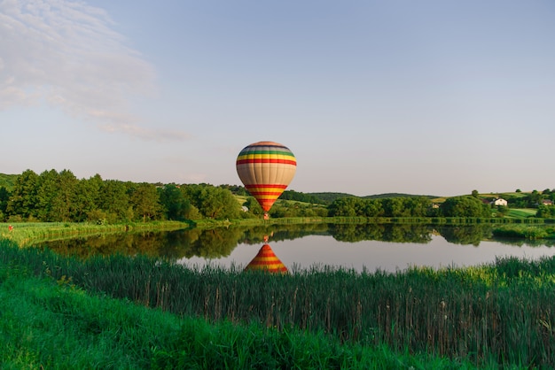
<svg viewBox="0 0 555 370"><path fill-rule="evenodd" d="M555 191L504 194L508 206L489 204L476 190L434 203L430 196L388 194L355 197L343 193L286 190L270 217L503 217L509 207L536 208L536 217L555 217ZM261 217L262 208L238 185L162 184L77 179L69 170L0 173L0 221L92 221L99 224L146 220L233 220Z"/></svg>

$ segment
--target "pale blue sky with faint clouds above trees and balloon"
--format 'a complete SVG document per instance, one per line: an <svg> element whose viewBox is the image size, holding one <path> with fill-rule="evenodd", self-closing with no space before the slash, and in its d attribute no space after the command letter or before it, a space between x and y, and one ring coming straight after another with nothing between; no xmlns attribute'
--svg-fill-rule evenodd
<svg viewBox="0 0 555 370"><path fill-rule="evenodd" d="M0 0L0 173L289 189L555 189L552 0Z"/></svg>

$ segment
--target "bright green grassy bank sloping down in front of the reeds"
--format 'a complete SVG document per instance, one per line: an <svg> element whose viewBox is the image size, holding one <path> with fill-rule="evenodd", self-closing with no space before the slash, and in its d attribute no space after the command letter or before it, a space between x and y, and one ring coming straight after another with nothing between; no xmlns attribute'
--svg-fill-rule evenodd
<svg viewBox="0 0 555 370"><path fill-rule="evenodd" d="M5 251L29 252L6 241L0 242L0 251L3 256ZM323 332L178 317L125 299L90 295L66 276L56 279L47 267L36 277L20 262L3 258L0 263L4 369L474 368L463 360L394 352L385 345L341 343ZM32 262L28 255L27 262Z"/></svg>

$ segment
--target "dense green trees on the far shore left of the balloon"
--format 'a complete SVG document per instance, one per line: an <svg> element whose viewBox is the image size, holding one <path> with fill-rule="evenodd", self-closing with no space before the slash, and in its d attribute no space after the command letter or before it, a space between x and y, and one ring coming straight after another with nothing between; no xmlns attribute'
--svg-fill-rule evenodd
<svg viewBox="0 0 555 370"><path fill-rule="evenodd" d="M207 184L79 180L69 170L27 170L12 190L0 187L0 220L99 224L133 220L214 220L248 217L229 189Z"/></svg>

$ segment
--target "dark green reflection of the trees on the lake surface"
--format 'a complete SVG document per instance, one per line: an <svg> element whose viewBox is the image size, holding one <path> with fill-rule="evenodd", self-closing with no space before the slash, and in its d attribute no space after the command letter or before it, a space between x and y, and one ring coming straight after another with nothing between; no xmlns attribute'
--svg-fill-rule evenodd
<svg viewBox="0 0 555 370"><path fill-rule="evenodd" d="M298 239L308 235L331 235L340 242L356 243L376 240L395 243L429 243L432 235L442 235L449 243L479 245L491 240L491 227L486 225L445 226L413 224L296 224L256 227L217 227L169 232L141 232L95 235L51 241L43 245L59 254L78 258L93 255L138 254L178 258L222 258L229 256L239 243L261 244ZM532 245L530 241L496 239L496 242ZM537 245L545 245L537 242Z"/></svg>

